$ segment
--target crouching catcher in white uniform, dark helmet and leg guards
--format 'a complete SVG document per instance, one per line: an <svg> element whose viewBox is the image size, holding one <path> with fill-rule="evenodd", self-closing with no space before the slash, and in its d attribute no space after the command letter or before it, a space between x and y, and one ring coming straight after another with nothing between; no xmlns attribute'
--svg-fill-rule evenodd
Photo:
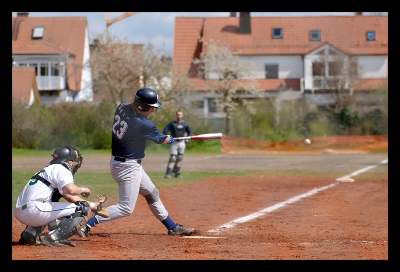
<svg viewBox="0 0 400 272"><path fill-rule="evenodd" d="M108 217L103 205L107 197L94 202L85 201L91 191L73 183L73 175L82 164L82 156L75 148L60 146L51 155L50 165L37 172L19 194L14 215L26 224L19 242L27 245L68 245L66 239L77 233L88 220L90 211ZM63 197L67 202L58 202ZM40 233L47 226L49 232L43 239Z"/></svg>

